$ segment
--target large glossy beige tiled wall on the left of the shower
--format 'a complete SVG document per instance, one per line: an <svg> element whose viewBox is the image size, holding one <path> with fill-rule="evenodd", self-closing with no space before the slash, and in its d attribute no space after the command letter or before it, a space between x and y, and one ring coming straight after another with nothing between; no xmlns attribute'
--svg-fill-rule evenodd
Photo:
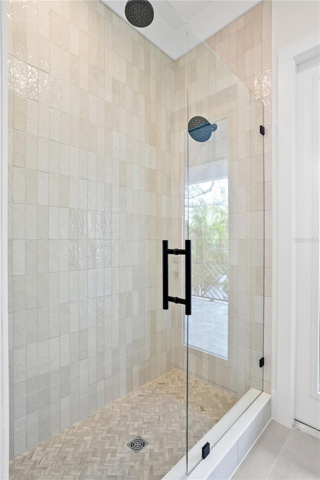
<svg viewBox="0 0 320 480"><path fill-rule="evenodd" d="M99 1L10 1L10 457L171 367L174 62ZM154 274L155 271L155 274Z"/></svg>

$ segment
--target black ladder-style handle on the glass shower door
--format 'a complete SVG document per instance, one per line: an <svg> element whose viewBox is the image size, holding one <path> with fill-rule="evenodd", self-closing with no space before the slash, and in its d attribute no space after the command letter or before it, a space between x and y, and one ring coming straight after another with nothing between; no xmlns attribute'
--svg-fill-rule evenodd
<svg viewBox="0 0 320 480"><path fill-rule="evenodd" d="M169 296L169 255L185 255L185 298ZM185 314L191 315L191 240L185 240L185 248L168 248L168 240L162 240L162 307L168 310L169 301L185 305Z"/></svg>

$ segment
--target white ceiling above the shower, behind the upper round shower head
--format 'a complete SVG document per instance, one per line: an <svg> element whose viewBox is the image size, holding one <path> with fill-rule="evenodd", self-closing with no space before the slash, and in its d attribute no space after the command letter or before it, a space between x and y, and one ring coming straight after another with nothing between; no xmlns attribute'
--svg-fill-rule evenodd
<svg viewBox="0 0 320 480"><path fill-rule="evenodd" d="M125 21L126 0L101 0ZM260 0L150 0L154 19L142 35L176 60ZM188 38L186 39L186 22Z"/></svg>

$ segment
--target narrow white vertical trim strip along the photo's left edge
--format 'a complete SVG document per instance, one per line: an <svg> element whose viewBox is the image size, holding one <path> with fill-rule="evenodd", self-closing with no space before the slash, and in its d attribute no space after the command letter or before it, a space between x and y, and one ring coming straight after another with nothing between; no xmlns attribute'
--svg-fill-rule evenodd
<svg viewBox="0 0 320 480"><path fill-rule="evenodd" d="M9 477L9 369L7 295L7 2L0 1L0 478Z"/></svg>

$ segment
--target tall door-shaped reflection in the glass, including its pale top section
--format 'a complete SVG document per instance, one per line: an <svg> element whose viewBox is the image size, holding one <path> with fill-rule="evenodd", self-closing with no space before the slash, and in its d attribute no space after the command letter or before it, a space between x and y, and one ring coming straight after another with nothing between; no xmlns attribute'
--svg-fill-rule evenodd
<svg viewBox="0 0 320 480"><path fill-rule="evenodd" d="M209 142L190 151L185 218L192 241L189 346L228 357L228 162L226 119ZM201 157L212 161L201 163ZM194 165L192 166L192 161ZM199 164L200 163L200 164ZM184 342L187 342L184 328Z"/></svg>

